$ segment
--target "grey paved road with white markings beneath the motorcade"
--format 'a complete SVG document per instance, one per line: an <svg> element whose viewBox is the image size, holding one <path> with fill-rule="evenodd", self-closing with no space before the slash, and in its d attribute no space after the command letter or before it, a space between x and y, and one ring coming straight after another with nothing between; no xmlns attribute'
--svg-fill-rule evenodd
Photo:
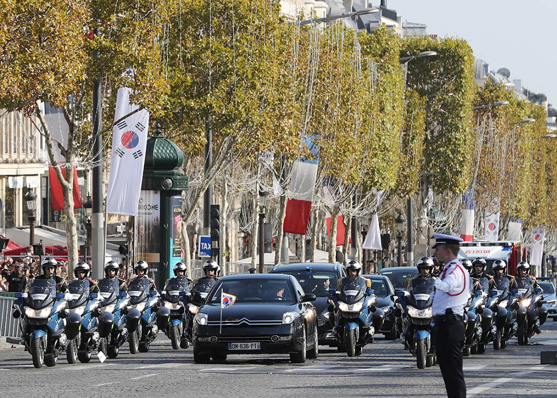
<svg viewBox="0 0 557 398"><path fill-rule="evenodd" d="M159 336L148 353L120 350L116 359L75 365L63 356L55 367L41 369L33 368L22 348L4 348L0 396L445 396L439 367L418 370L398 340L379 338L354 358L320 347L319 358L303 365L280 355L229 356L224 364L196 365L191 348L174 351ZM557 322L548 320L528 346L513 339L505 350L489 345L485 354L465 358L468 396L557 396L557 365L539 365L540 351L551 350L557 350Z"/></svg>

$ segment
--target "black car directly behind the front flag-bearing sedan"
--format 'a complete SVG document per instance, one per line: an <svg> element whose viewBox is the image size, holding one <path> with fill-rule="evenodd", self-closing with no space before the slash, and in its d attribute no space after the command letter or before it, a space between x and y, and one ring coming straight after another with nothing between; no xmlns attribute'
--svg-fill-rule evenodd
<svg viewBox="0 0 557 398"><path fill-rule="evenodd" d="M297 279L304 292L317 296L314 304L317 310L319 344L336 347L333 326L329 322L329 289L336 289L339 279L346 276L346 269L341 263L293 263L277 264L270 273L289 274Z"/></svg>

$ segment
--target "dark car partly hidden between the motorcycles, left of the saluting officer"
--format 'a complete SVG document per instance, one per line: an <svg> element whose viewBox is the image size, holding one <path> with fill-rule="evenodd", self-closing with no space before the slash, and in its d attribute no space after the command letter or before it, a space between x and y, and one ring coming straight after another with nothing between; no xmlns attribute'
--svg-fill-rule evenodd
<svg viewBox="0 0 557 398"><path fill-rule="evenodd" d="M383 333L387 340L396 340L400 335L400 331L397 328L397 316L394 315L394 300L397 296L393 284L384 275L363 275L363 277L372 280L372 289L374 290L375 297L377 297L375 306L383 309L385 313L383 327L380 331L376 331L376 333Z"/></svg>

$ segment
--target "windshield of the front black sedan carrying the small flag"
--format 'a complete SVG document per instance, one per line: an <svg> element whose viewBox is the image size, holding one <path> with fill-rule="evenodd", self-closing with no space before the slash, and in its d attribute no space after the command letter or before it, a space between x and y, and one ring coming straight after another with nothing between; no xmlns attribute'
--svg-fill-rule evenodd
<svg viewBox="0 0 557 398"><path fill-rule="evenodd" d="M221 292L236 296L236 303L296 302L296 295L287 279L226 279L220 281L211 303L221 302Z"/></svg>

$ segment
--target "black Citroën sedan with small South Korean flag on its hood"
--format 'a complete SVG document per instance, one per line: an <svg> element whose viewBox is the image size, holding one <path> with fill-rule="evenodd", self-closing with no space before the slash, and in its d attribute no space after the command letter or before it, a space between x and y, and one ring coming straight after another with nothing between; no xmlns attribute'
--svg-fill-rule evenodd
<svg viewBox="0 0 557 398"><path fill-rule="evenodd" d="M245 353L289 353L293 363L317 358L317 313L311 301L315 295L305 294L290 275L219 279L194 318L194 362L221 362Z"/></svg>

